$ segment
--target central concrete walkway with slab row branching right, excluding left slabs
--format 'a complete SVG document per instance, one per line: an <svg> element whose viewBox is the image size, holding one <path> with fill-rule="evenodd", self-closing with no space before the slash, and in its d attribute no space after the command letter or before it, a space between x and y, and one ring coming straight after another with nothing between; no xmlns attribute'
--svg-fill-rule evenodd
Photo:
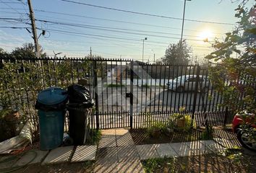
<svg viewBox="0 0 256 173"><path fill-rule="evenodd" d="M232 144L221 138L184 143L135 145L128 130L102 131L95 172L144 172L140 161L171 156L193 156L223 151ZM217 141L217 142L216 142Z"/></svg>

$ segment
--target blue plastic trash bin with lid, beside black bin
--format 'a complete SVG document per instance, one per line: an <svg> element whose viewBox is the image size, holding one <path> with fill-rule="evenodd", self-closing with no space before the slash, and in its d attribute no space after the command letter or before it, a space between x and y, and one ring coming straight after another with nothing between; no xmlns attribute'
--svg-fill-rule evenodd
<svg viewBox="0 0 256 173"><path fill-rule="evenodd" d="M61 145L67 99L67 91L58 87L50 87L38 94L35 108L38 109L41 150Z"/></svg>

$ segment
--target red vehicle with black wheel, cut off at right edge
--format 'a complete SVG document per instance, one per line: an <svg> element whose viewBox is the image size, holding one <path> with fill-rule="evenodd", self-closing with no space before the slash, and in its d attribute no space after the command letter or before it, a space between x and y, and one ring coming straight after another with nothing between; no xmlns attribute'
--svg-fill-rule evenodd
<svg viewBox="0 0 256 173"><path fill-rule="evenodd" d="M232 122L232 130L236 133L239 142L245 148L249 148L252 151L256 151L256 124L255 124L255 114L247 114L245 122L248 128L252 128L252 136L250 136L247 130L243 130L242 124L244 120L242 115L236 114Z"/></svg>

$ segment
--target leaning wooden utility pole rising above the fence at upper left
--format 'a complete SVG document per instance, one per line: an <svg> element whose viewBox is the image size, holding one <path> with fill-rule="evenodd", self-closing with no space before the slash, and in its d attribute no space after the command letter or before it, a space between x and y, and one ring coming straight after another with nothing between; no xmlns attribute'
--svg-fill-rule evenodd
<svg viewBox="0 0 256 173"><path fill-rule="evenodd" d="M33 7L31 4L30 0L27 0L28 7L30 9L30 20L31 20L31 27L32 27L32 32L33 32L33 40L35 43L35 56L37 58L40 58L40 48L38 44L38 35L36 33L36 27L35 27L35 17L34 17L34 12L33 12Z"/></svg>

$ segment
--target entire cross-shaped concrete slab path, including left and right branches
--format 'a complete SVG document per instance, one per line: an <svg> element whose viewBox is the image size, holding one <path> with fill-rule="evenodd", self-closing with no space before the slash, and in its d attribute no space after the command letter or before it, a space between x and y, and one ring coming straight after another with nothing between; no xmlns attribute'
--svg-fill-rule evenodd
<svg viewBox="0 0 256 173"><path fill-rule="evenodd" d="M102 130L97 146L65 146L51 151L33 150L20 157L2 163L0 169L26 164L60 164L96 160L95 172L144 172L141 161L171 156L193 156L223 151L234 146L230 140L214 138L209 141L184 143L159 143L135 145L129 130Z"/></svg>

